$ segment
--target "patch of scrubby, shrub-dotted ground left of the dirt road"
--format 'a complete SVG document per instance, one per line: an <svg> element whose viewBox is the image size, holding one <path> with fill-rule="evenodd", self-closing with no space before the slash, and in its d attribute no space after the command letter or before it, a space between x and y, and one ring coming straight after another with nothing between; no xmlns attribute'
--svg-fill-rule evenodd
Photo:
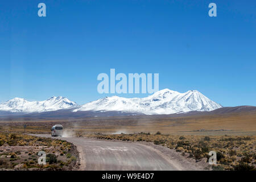
<svg viewBox="0 0 256 182"><path fill-rule="evenodd" d="M0 133L0 141L0 169L65 170L76 166L76 148L64 140ZM46 165L38 164L39 151L46 152ZM63 156L67 152L68 158Z"/></svg>

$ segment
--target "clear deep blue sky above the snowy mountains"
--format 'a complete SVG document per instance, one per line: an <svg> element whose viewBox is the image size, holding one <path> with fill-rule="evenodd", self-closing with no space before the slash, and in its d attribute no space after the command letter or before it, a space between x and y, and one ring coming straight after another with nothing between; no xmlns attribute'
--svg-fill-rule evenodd
<svg viewBox="0 0 256 182"><path fill-rule="evenodd" d="M208 16L210 2L217 17ZM255 10L256 1L234 0L1 1L0 102L54 95L85 104L107 96L97 75L115 68L159 73L159 89L255 106Z"/></svg>

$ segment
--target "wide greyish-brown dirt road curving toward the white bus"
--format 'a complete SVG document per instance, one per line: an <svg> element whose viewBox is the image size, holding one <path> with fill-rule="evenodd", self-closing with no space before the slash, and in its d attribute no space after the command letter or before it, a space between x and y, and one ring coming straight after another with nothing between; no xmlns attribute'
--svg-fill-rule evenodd
<svg viewBox="0 0 256 182"><path fill-rule="evenodd" d="M38 134L38 137L51 135ZM53 138L53 137L52 137ZM139 143L54 137L75 144L81 156L81 170L180 170L181 168L150 146Z"/></svg>

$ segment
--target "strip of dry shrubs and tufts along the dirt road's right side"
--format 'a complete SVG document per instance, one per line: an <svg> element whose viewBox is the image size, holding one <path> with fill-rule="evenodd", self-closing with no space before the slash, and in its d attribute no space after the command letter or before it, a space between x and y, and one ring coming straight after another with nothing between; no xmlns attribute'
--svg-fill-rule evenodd
<svg viewBox="0 0 256 182"><path fill-rule="evenodd" d="M160 132L159 132L160 133ZM254 170L256 137L194 136L194 135L146 135L146 134L90 134L98 139L145 141L161 144L188 158L209 159L209 151L216 151L217 165L213 170Z"/></svg>

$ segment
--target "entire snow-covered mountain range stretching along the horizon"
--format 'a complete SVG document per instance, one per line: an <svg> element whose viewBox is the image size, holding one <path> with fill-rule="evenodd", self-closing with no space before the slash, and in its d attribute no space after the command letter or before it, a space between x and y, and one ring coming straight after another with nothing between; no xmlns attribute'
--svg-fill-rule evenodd
<svg viewBox="0 0 256 182"><path fill-rule="evenodd" d="M14 98L0 104L0 114L3 113L43 113L49 111L118 111L122 113L142 114L174 114L189 111L212 111L221 108L220 104L205 97L197 90L179 93L163 89L144 98L124 98L118 96L100 98L96 101L78 105L65 97L51 97L46 101L27 101Z"/></svg>

